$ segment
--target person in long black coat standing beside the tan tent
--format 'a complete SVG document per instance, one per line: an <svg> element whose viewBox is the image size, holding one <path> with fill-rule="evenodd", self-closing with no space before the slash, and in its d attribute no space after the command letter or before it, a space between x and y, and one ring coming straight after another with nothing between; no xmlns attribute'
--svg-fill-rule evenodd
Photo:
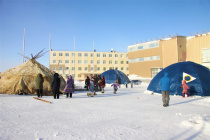
<svg viewBox="0 0 210 140"><path fill-rule="evenodd" d="M54 99L56 99L56 97L57 99L59 99L60 78L58 73L54 74L53 82L51 84L51 89L53 91Z"/></svg>

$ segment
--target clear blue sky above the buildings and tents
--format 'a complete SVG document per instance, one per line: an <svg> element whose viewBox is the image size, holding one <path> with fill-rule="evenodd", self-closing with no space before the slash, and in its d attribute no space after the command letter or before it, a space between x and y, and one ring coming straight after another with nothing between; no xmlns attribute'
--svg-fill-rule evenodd
<svg viewBox="0 0 210 140"><path fill-rule="evenodd" d="M0 72L40 50L127 52L168 35L210 32L210 0L0 0ZM49 67L49 53L37 60Z"/></svg>

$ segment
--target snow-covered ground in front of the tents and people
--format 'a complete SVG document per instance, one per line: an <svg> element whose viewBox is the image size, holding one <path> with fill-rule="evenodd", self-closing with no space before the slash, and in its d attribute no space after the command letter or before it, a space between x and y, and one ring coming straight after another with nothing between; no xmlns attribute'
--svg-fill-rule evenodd
<svg viewBox="0 0 210 140"><path fill-rule="evenodd" d="M73 98L0 94L0 140L209 140L210 98L147 94L148 84Z"/></svg>

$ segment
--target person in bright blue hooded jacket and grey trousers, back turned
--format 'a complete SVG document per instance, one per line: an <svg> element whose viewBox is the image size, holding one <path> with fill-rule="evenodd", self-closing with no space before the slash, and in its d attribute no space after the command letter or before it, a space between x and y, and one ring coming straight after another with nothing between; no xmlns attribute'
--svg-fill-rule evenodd
<svg viewBox="0 0 210 140"><path fill-rule="evenodd" d="M169 106L169 94L170 94L170 86L171 86L171 80L168 78L168 73L166 72L164 74L164 77L160 80L160 85L162 89L162 101L163 106L167 107Z"/></svg>

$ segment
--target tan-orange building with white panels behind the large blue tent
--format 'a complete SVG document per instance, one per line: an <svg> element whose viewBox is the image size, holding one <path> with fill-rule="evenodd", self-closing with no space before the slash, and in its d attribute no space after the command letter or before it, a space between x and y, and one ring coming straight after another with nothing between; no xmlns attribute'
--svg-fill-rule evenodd
<svg viewBox="0 0 210 140"><path fill-rule="evenodd" d="M128 46L129 74L154 77L161 69L181 61L210 67L210 33L175 36Z"/></svg>

